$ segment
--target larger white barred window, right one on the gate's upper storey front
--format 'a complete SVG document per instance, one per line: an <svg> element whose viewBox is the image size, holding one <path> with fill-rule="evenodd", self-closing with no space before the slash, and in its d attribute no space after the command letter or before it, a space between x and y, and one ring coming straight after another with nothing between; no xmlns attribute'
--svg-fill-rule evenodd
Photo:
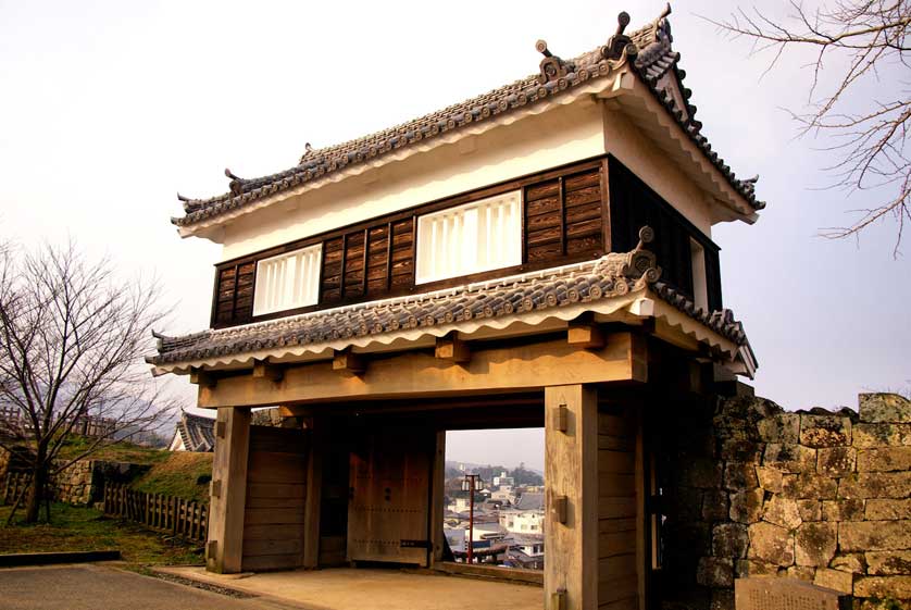
<svg viewBox="0 0 911 610"><path fill-rule="evenodd" d="M522 191L417 219L416 284L522 264Z"/></svg>

